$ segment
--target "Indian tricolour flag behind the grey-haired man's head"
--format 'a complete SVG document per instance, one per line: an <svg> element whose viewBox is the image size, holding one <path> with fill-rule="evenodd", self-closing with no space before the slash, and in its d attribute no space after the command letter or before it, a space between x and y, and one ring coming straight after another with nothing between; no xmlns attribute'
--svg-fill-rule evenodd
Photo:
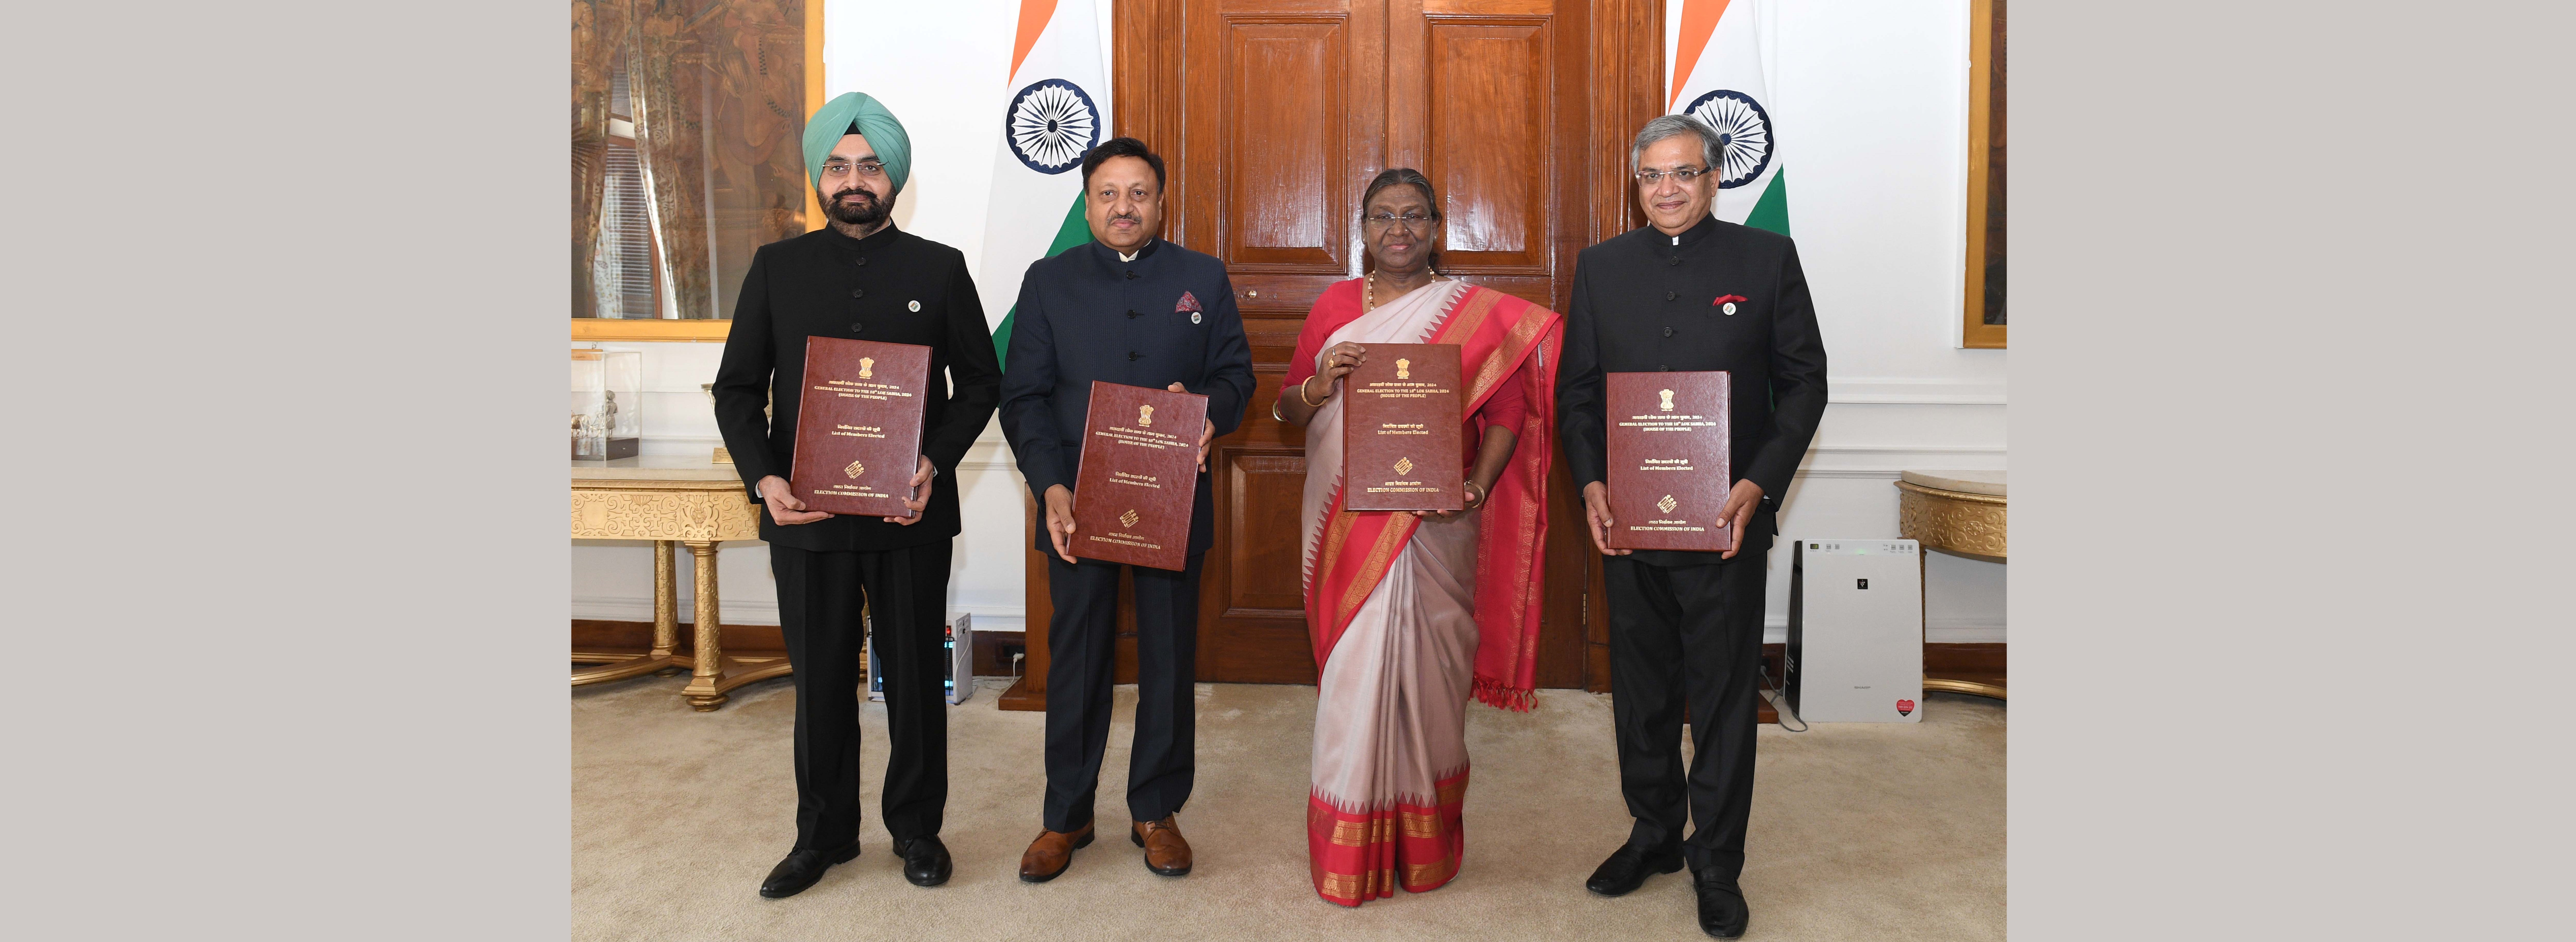
<svg viewBox="0 0 2576 942"><path fill-rule="evenodd" d="M1726 142L1718 167L1718 219L1788 234L1788 183L1772 136L1770 82L1762 72L1759 0L1677 0L1664 5L1664 108L1708 121Z"/></svg>

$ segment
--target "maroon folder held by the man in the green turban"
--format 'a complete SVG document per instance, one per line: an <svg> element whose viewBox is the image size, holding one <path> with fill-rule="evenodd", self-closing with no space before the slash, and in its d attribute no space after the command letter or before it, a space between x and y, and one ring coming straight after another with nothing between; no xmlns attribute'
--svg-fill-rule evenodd
<svg viewBox="0 0 2576 942"><path fill-rule="evenodd" d="M788 492L827 515L912 517L930 347L806 337Z"/></svg>

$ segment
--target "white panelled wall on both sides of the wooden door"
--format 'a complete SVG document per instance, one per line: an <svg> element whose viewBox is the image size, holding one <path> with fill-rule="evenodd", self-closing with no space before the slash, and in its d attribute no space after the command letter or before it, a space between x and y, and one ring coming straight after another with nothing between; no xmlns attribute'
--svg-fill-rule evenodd
<svg viewBox="0 0 2576 942"><path fill-rule="evenodd" d="M845 8L866 15L832 15ZM984 252L989 134L1015 10L1010 0L958 0L835 3L827 13L824 90L876 95L912 134L912 183L896 198L896 224L969 260ZM1958 350L1968 5L1783 0L1765 10L1777 49L1770 72L1790 229L1834 386L1780 528L1811 538L1896 535L1896 471L2004 466L2004 353ZM1110 36L1105 15L1100 36ZM613 347L647 350L647 450L719 445L698 391L716 376L716 345ZM966 453L958 484L966 533L951 607L971 610L976 628L1020 628L1023 492L997 427ZM762 543L732 543L719 566L729 623L778 620ZM683 579L683 615L685 592ZM2004 566L1932 556L1927 595L1935 641L2004 641ZM1770 602L1777 633L1788 613L1785 548L1772 556ZM574 543L572 615L647 620L649 546Z"/></svg>

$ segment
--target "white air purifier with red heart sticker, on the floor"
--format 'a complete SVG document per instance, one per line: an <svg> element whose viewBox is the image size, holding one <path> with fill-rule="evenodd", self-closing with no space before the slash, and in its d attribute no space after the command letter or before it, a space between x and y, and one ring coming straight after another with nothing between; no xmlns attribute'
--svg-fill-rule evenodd
<svg viewBox="0 0 2576 942"><path fill-rule="evenodd" d="M1801 721L1922 721L1922 546L1793 540L1785 654L1788 705Z"/></svg>

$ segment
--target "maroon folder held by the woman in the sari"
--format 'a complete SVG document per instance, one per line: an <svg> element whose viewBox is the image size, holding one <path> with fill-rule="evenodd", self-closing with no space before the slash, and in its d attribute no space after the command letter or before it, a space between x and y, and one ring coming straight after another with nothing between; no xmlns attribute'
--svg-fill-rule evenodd
<svg viewBox="0 0 2576 942"><path fill-rule="evenodd" d="M1373 342L1342 378L1342 507L1466 510L1453 342Z"/></svg>

